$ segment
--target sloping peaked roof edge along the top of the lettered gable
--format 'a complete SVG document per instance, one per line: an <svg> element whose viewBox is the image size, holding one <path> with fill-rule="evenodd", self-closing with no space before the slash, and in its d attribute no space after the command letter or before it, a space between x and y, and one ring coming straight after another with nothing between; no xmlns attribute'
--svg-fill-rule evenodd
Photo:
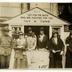
<svg viewBox="0 0 72 72"><path fill-rule="evenodd" d="M68 23L68 24L71 24L70 22L68 22L68 21L66 21L66 20L64 20L64 19L61 19L61 18L59 18L59 17L53 15L52 13L50 13L50 12L48 12L48 11L42 9L42 8L39 8L39 7L35 7L35 8L38 8L38 9L40 9L40 10L42 10L42 11L44 11L44 12L46 12L46 13L52 15L52 16L54 16L54 17L57 18L57 19L60 19L60 20L66 22L66 23ZM10 20L12 20L12 19L14 19L14 18L16 18L16 17L18 17L18 16L20 16L20 15L23 15L24 13L27 13L27 12L29 12L29 11L35 9L35 8L32 8L32 9L30 9L30 10L27 10L27 11L23 12L22 14L16 15L16 16L12 17L11 19L7 20L7 21L10 21ZM7 21L5 21L5 22L7 22Z"/></svg>

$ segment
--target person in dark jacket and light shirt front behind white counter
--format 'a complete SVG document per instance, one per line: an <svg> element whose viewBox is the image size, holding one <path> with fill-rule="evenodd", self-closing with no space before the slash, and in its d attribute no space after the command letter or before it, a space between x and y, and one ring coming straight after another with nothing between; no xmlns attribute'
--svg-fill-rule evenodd
<svg viewBox="0 0 72 72"><path fill-rule="evenodd" d="M41 27L40 34L37 39L37 49L42 49L42 48L47 49L47 44L48 44L48 38L44 33L44 28Z"/></svg>

